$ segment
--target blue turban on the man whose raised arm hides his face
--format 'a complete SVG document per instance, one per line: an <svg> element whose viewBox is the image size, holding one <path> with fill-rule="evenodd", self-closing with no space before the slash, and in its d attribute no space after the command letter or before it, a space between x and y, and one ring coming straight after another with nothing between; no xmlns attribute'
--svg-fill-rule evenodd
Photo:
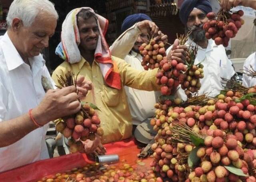
<svg viewBox="0 0 256 182"><path fill-rule="evenodd" d="M121 32L123 33L124 31L126 31L128 28L132 27L132 25L134 25L137 22L141 22L143 20L151 20L151 18L143 13L138 13L138 14L132 14L127 16L124 19L124 22L122 23L122 27L121 27Z"/></svg>

